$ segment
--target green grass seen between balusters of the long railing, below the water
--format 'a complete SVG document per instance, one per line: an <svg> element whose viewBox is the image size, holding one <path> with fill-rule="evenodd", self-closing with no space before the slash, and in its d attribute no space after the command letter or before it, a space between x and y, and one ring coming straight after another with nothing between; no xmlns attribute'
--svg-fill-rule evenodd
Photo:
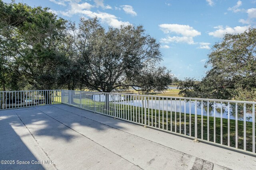
<svg viewBox="0 0 256 170"><path fill-rule="evenodd" d="M104 107L105 105L102 103L98 103L97 110L98 112L105 113L107 112ZM114 116L114 104L110 104L110 109L108 109L109 115ZM137 109L137 111L136 111ZM145 109L142 107L135 106L127 106L116 104L116 117L120 117L123 119L127 119L130 121L135 121L137 123L145 124L144 115ZM136 114L137 113L137 114ZM139 115L140 113L140 115ZM149 113L149 114L148 114ZM164 115L163 115L164 113ZM166 119L166 114L168 114L168 119ZM172 114L172 120L170 119ZM149 116L149 117L148 117ZM163 119L164 117L164 119ZM181 119L180 119L181 118ZM160 119L160 121L159 121ZM186 124L184 120L186 119ZM153 121L152 121L153 120ZM164 120L164 121L163 121ZM191 114L191 131L189 128L190 115L186 113L186 118L184 113L176 112L176 133L180 133L183 135L191 135L191 137L195 136L195 115ZM171 129L172 122L172 129ZM203 116L203 120L201 119L201 115L197 116L197 136L198 139L208 140L207 136L207 116ZM216 117L216 143L221 143L221 119ZM175 132L175 112L162 112L162 110L158 109L146 109L146 125L150 125L153 127L160 127L160 129L165 129L168 131ZM185 134L185 125L186 125L186 134ZM201 131L201 125L203 125L203 133ZM203 138L202 138L203 135ZM214 117L209 117L209 141L214 142ZM228 119L222 119L222 144L228 145ZM236 147L236 121L230 119L230 147ZM238 149L244 149L244 121L238 120ZM246 150L252 151L252 122L246 122Z"/></svg>

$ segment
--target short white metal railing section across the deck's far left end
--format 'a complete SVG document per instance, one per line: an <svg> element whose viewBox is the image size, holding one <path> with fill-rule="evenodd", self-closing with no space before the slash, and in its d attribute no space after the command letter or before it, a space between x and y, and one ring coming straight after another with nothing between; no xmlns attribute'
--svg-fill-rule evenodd
<svg viewBox="0 0 256 170"><path fill-rule="evenodd" d="M60 103L61 90L0 91L0 110Z"/></svg>

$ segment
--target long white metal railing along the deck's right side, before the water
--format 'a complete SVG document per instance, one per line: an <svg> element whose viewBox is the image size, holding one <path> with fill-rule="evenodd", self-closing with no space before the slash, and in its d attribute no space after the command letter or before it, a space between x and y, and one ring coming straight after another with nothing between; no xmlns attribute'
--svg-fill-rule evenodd
<svg viewBox="0 0 256 170"><path fill-rule="evenodd" d="M256 102L62 90L61 102L255 154Z"/></svg>

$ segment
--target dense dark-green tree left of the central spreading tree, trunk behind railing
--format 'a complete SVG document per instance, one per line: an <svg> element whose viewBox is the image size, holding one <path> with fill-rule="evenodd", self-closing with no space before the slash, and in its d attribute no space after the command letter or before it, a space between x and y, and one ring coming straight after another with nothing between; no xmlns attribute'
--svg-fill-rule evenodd
<svg viewBox="0 0 256 170"><path fill-rule="evenodd" d="M1 59L6 59L1 62L4 63L1 69L4 65L5 70L15 72L11 76L12 80L23 78L23 82L26 81L35 89L60 87L59 68L64 66L66 59L58 48L66 31L66 21L48 12L48 8L31 8L22 3L4 3L0 12L3 16L0 20L1 43L6 45L1 46L4 48ZM3 75L8 78L10 73L2 72L2 82ZM16 82L12 80L8 83ZM18 87L14 85L10 88ZM44 96L49 103L50 95Z"/></svg>

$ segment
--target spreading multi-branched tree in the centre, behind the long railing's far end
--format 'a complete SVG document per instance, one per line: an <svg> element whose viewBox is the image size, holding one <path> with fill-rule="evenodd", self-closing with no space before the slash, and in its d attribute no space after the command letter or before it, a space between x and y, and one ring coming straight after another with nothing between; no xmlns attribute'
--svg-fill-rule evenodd
<svg viewBox="0 0 256 170"><path fill-rule="evenodd" d="M149 63L161 59L159 43L145 34L142 26L104 29L96 18L81 19L73 27L73 39L87 66L86 86L100 92L127 87L126 80L138 76Z"/></svg>

